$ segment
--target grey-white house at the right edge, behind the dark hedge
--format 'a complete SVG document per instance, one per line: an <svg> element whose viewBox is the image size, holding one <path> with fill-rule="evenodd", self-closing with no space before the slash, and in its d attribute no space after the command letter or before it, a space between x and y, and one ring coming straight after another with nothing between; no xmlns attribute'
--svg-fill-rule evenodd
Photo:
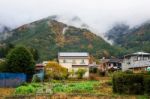
<svg viewBox="0 0 150 99"><path fill-rule="evenodd" d="M150 53L137 52L124 56L122 70L132 70L135 73L145 71L150 67Z"/></svg>

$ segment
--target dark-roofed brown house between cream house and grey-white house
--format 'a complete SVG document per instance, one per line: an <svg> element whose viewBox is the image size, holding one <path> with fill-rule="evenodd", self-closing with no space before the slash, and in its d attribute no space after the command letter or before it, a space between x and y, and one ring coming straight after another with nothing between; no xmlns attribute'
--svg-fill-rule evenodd
<svg viewBox="0 0 150 99"><path fill-rule="evenodd" d="M111 58L111 59L101 59L101 64L99 69L102 71L116 71L121 70L122 67L122 59Z"/></svg>

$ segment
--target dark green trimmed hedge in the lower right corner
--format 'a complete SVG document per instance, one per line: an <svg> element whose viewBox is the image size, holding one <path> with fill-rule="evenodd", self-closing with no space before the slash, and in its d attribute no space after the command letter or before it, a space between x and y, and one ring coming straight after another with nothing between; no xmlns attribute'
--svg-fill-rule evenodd
<svg viewBox="0 0 150 99"><path fill-rule="evenodd" d="M144 74L115 73L112 78L113 92L119 94L150 95L150 76Z"/></svg>

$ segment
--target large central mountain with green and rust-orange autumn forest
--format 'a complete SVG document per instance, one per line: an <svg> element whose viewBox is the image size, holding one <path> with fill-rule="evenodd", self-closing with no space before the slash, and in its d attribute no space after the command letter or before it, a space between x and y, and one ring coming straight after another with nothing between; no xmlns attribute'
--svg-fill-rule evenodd
<svg viewBox="0 0 150 99"><path fill-rule="evenodd" d="M73 20L79 21L77 18ZM12 35L1 43L13 43L36 48L40 60L57 58L58 52L88 51L93 56L116 55L119 48L111 46L101 37L85 28L77 28L48 17L25 24L10 31Z"/></svg>

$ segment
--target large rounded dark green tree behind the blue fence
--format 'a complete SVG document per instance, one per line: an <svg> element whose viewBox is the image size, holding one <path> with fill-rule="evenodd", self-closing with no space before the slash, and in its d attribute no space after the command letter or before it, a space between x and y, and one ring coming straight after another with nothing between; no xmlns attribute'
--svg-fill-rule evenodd
<svg viewBox="0 0 150 99"><path fill-rule="evenodd" d="M7 71L14 73L33 74L35 62L31 52L25 47L16 47L12 49L7 57Z"/></svg>

